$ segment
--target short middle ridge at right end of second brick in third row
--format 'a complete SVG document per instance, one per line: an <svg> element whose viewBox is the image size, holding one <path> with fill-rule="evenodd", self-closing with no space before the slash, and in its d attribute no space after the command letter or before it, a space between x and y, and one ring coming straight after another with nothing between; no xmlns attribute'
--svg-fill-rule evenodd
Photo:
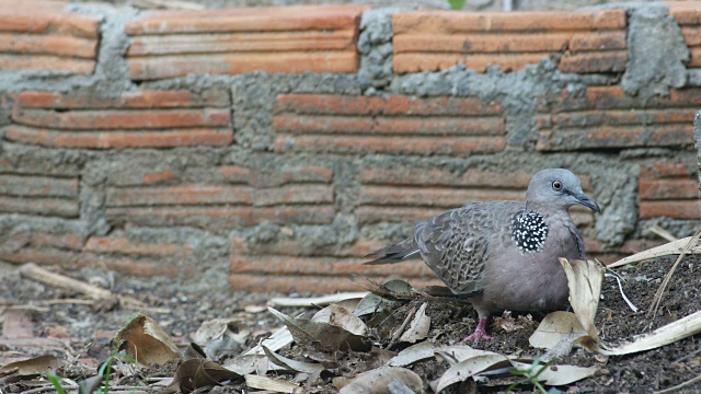
<svg viewBox="0 0 701 394"><path fill-rule="evenodd" d="M256 207L333 202L333 188L322 185L294 185L254 190L253 205Z"/></svg>

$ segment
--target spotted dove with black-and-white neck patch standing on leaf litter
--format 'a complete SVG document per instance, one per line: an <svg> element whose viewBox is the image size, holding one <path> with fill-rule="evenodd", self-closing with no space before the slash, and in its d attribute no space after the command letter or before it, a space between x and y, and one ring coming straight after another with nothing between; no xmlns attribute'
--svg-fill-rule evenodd
<svg viewBox="0 0 701 394"><path fill-rule="evenodd" d="M537 173L526 201L472 202L416 224L414 236L369 254L366 264L393 264L421 255L479 314L467 340L489 339L486 322L504 310L564 305L568 289L559 257L584 258L584 242L567 209L599 206L563 169Z"/></svg>

